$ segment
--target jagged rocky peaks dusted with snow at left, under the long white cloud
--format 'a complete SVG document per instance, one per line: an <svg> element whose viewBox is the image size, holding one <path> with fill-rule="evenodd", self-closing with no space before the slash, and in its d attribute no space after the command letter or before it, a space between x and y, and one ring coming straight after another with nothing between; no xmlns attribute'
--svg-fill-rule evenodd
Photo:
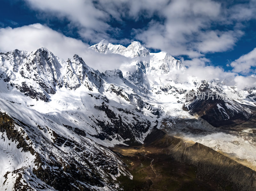
<svg viewBox="0 0 256 191"><path fill-rule="evenodd" d="M49 94L55 94L56 88L63 86L75 90L84 85L93 90L102 85L100 72L88 67L78 55L65 62L46 48L31 53L19 50L1 53L0 63L3 70L0 77L4 82L36 100L48 102L51 97ZM12 71L7 68L8 65L13 66ZM20 77L23 78L22 82Z"/></svg>

